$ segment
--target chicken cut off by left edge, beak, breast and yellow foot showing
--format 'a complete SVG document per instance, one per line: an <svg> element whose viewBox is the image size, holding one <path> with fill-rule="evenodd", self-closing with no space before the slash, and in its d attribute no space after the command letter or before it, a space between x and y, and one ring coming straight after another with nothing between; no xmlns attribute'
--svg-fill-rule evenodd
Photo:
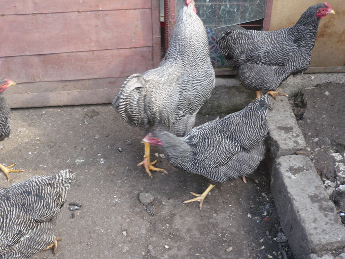
<svg viewBox="0 0 345 259"><path fill-rule="evenodd" d="M5 100L5 97L2 95L3 91L6 90L11 85L15 85L16 82L13 82L7 78L0 78L0 141L7 138L10 134L10 122L11 122L11 110ZM10 172L23 172L22 170L13 170L11 169L15 164L10 166L4 166L0 164L1 171L6 175L7 181L9 181Z"/></svg>

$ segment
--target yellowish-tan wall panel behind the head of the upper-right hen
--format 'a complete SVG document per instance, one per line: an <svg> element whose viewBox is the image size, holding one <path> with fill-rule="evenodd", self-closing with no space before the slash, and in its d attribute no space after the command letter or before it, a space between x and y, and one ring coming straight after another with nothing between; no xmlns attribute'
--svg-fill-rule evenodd
<svg viewBox="0 0 345 259"><path fill-rule="evenodd" d="M273 0L270 31L293 26L309 6L320 0ZM336 14L320 21L311 67L345 66L345 2L328 0Z"/></svg>

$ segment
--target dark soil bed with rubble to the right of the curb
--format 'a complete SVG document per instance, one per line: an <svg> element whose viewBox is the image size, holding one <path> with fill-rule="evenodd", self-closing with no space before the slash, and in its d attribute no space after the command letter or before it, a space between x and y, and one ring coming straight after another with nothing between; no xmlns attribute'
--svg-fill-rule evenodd
<svg viewBox="0 0 345 259"><path fill-rule="evenodd" d="M345 211L345 192L335 188L345 182L337 174L332 154L339 153L345 158L344 98L344 84L326 83L302 90L291 101L299 127L310 148L311 160L338 211Z"/></svg>

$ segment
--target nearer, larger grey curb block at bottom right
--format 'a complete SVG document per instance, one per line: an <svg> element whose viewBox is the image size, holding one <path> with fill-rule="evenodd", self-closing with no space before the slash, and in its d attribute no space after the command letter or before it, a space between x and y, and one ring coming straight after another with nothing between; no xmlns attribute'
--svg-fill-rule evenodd
<svg viewBox="0 0 345 259"><path fill-rule="evenodd" d="M344 247L344 226L308 157L278 157L271 191L295 259Z"/></svg>

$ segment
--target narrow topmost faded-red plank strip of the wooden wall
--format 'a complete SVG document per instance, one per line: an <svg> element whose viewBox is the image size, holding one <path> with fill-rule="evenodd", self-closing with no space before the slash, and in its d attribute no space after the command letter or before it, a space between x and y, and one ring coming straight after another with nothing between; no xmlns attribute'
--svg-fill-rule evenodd
<svg viewBox="0 0 345 259"><path fill-rule="evenodd" d="M1 0L0 14L32 14L151 8L151 0Z"/></svg>

